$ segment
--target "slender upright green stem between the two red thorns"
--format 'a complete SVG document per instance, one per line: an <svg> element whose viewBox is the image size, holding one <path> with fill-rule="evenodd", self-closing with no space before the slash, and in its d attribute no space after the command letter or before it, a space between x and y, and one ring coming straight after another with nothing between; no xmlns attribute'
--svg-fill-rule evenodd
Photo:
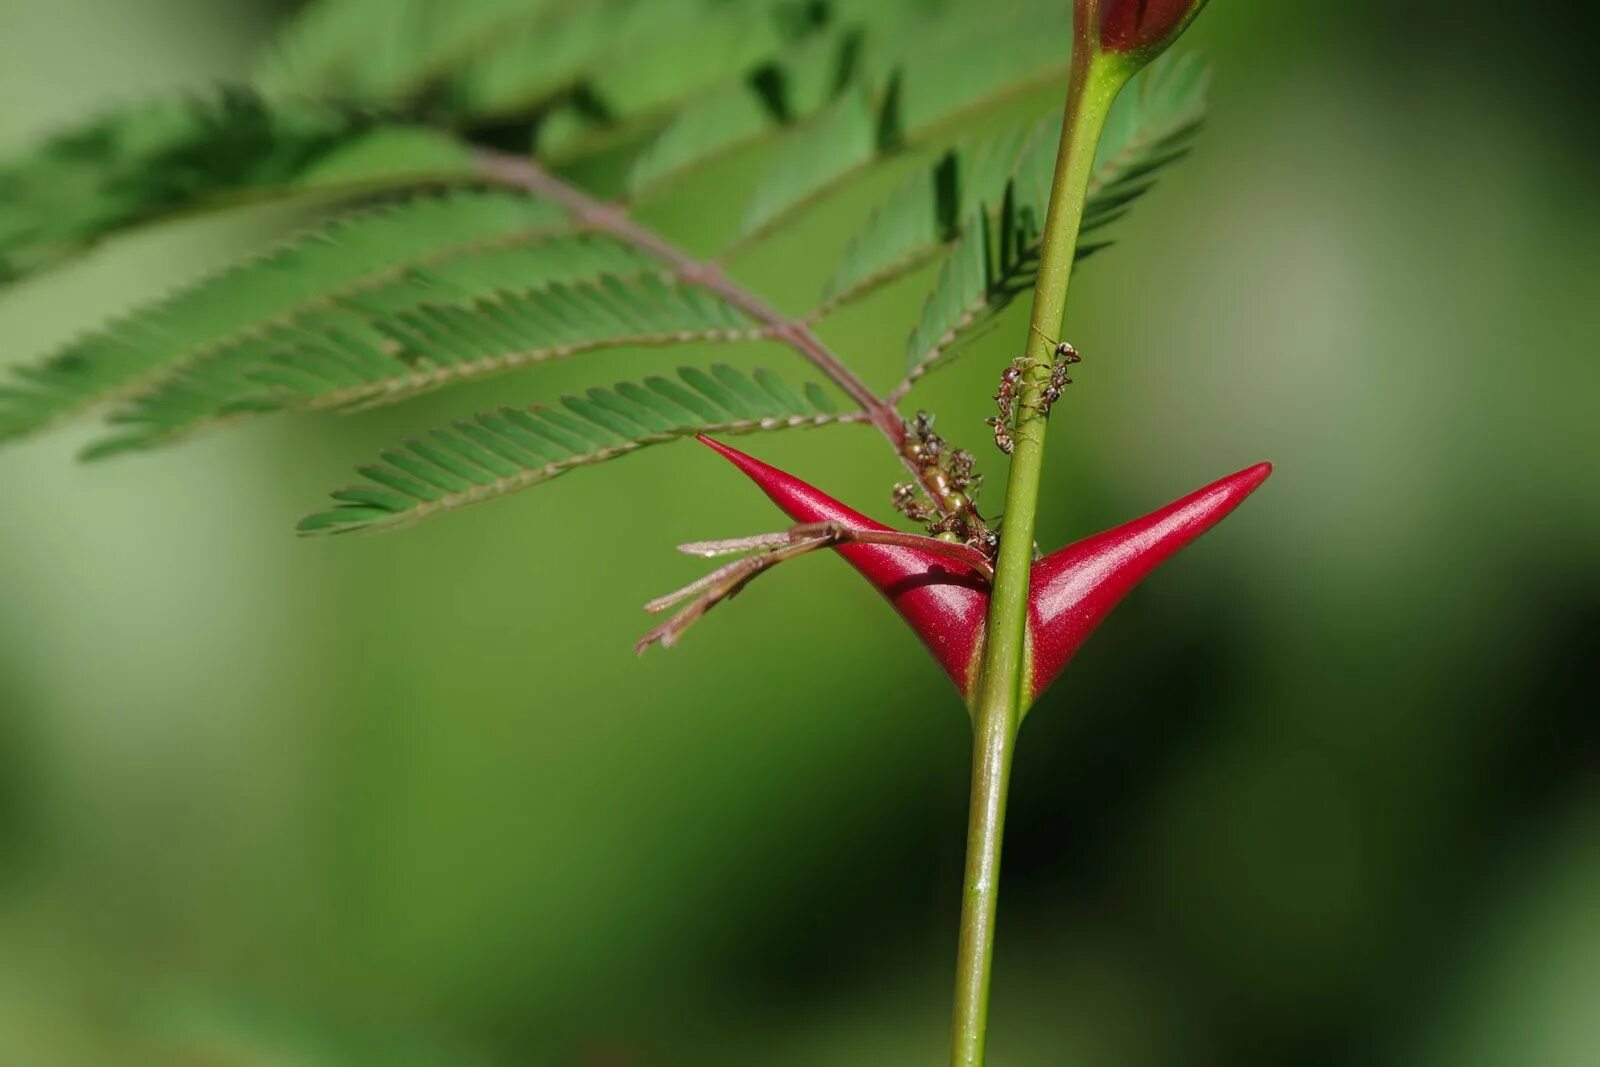
<svg viewBox="0 0 1600 1067"><path fill-rule="evenodd" d="M1005 494L1005 531L995 565L994 597L978 688L973 697L973 784L966 827L966 878L955 974L952 1067L981 1067L994 968L995 909L1000 894L1000 841L1018 726L1030 701L1027 685L1027 577L1034 565L1034 520L1045 462L1046 416L1040 397L1050 384L1054 346L1067 309L1072 259L1083 224L1094 149L1112 101L1126 83L1125 64L1080 46L1074 56L1061 150L1040 246L1038 282L1027 338L1016 451Z"/></svg>

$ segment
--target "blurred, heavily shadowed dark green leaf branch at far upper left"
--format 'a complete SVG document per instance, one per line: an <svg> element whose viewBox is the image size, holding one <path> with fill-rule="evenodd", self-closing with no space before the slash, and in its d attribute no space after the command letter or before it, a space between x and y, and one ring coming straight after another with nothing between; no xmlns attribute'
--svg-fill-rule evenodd
<svg viewBox="0 0 1600 1067"><path fill-rule="evenodd" d="M0 166L0 283L158 218L469 174L445 134L245 90L130 107Z"/></svg>

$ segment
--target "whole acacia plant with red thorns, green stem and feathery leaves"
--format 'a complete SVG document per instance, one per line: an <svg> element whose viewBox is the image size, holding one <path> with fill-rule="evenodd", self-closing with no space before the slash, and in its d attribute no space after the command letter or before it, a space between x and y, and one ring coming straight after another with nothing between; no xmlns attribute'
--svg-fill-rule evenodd
<svg viewBox="0 0 1600 1067"><path fill-rule="evenodd" d="M1074 264L1189 150L1208 74L1163 53L1203 5L314 0L248 83L102 115L0 170L0 280L200 211L293 200L330 216L16 368L0 386L0 440L101 411L107 432L85 454L104 459L597 349L725 344L726 362L554 403L507 397L395 445L299 531L403 526L683 437L731 459L797 525L683 545L736 558L651 601L675 613L640 648L670 645L765 569L818 549L917 630L974 729L952 1062L981 1064L1022 717L1128 589L1269 472L1050 555L1035 547L1045 432L1078 360L1059 339ZM1050 86L1062 90L1050 114L984 120ZM955 123L978 134L952 144ZM706 251L704 235L640 221L736 152L762 163L731 238ZM909 163L811 307L781 309L730 269L818 202ZM603 178L618 173L621 184ZM818 323L931 264L901 381L877 392ZM989 426L949 445L910 395L1026 296ZM814 381L752 366L754 342L798 354ZM918 533L718 440L837 424L870 427L899 458L907 478L886 498ZM998 509L979 504L979 453L1010 458Z"/></svg>

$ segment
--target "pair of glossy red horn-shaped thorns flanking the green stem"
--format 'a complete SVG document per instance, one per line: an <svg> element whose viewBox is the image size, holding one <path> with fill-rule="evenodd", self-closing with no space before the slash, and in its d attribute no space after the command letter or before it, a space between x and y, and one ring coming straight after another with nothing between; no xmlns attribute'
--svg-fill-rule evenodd
<svg viewBox="0 0 1600 1067"><path fill-rule="evenodd" d="M816 486L701 435L798 523L840 523L885 531ZM1032 697L1056 680L1110 609L1186 544L1219 523L1272 474L1256 464L1150 512L1144 518L1070 544L1034 563L1029 579ZM883 593L917 632L963 696L971 694L989 614L989 582L962 563L925 549L843 544L834 549Z"/></svg>

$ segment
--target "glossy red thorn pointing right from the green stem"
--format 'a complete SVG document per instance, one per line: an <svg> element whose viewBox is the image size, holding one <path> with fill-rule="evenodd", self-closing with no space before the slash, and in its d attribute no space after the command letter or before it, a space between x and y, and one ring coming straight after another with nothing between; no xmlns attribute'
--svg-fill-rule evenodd
<svg viewBox="0 0 1600 1067"><path fill-rule="evenodd" d="M1034 696L1056 680L1134 585L1222 522L1270 474L1267 462L1246 467L1144 518L1085 537L1034 563L1027 595Z"/></svg>

